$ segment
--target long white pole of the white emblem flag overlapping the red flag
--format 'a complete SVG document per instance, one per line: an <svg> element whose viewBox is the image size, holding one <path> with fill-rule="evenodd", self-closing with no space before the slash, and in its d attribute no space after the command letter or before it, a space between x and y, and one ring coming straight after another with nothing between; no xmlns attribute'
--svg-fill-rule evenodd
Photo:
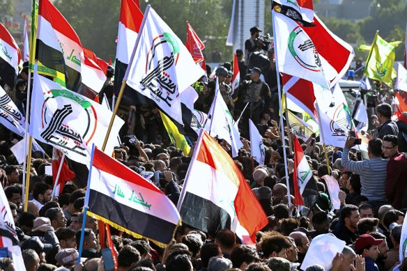
<svg viewBox="0 0 407 271"><path fill-rule="evenodd" d="M278 88L278 101L279 101L279 115L280 115L280 129L282 131L282 144L283 144L283 154L284 154L284 164L285 164L285 173L286 173L286 185L287 185L287 190L289 192L289 207L291 206L291 192L290 192L290 181L289 181L289 170L288 170L288 164L287 164L287 153L286 153L286 141L284 139L284 123L283 123L283 108L282 108L282 89L280 85L280 79L279 79L279 67L278 67L278 57L277 57L277 42L275 40L276 38L276 30L275 30L275 11L271 11L271 20L272 20L272 36L274 38L274 44L275 44L275 70L277 72L277 88Z"/></svg>

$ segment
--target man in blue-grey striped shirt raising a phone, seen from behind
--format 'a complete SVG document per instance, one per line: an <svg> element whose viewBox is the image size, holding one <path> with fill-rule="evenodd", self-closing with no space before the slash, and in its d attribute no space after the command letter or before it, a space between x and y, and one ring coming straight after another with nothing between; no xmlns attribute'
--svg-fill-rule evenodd
<svg viewBox="0 0 407 271"><path fill-rule="evenodd" d="M378 210L387 204L385 195L385 181L387 178L387 159L382 158L382 140L370 139L367 148L369 160L351 161L349 160L349 150L355 145L355 137L348 137L342 153L341 165L348 171L353 171L360 175L360 194L369 199L369 204Z"/></svg>

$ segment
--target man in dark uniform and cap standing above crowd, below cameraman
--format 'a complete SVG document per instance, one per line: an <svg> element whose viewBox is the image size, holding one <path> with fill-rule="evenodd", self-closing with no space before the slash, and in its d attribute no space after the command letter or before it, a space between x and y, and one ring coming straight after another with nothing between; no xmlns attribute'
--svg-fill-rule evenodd
<svg viewBox="0 0 407 271"><path fill-rule="evenodd" d="M260 123L263 114L270 113L270 88L265 82L261 82L260 68L252 68L250 70L250 80L243 81L235 91L238 91L238 99L236 101L236 111L240 114L249 103L247 109L243 113L242 123L243 137L249 138L249 118L254 124Z"/></svg>

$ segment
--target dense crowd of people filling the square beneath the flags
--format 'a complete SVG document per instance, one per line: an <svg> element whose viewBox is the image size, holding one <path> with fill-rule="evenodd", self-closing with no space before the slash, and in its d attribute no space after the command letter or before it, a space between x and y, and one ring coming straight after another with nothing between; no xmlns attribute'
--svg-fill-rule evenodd
<svg viewBox="0 0 407 271"><path fill-rule="evenodd" d="M231 63L224 63L215 71L219 79L220 93L236 118L247 109L239 123L244 147L234 161L268 217L268 224L256 234L255 245L245 245L235 233L222 229L203 233L187 224L179 226L174 240L165 249L146 238L134 238L111 228L114 244L112 255L117 255L117 270L192 271L192 270L407 270L407 260L399 262L401 229L407 208L406 139L403 123L392 121L392 107L381 103L376 107L377 129L371 135L369 160L360 160L352 148L355 138L349 137L345 147L328 146L327 157L318 140L310 137L301 140L309 167L318 187L318 199L307 215L298 215L294 202L293 166L284 161L282 137L277 119L278 94L275 64L272 50L267 52L268 63L247 68L249 55L260 49L256 45L260 29L250 29L252 38L247 42L245 54L238 50L240 85L231 86ZM257 47L256 47L257 46ZM245 59L245 56L247 58ZM213 56L215 57L215 56ZM208 69L208 73L209 69ZM19 75L15 89L8 89L10 97L24 112L28 68ZM102 93L112 94L110 68L108 80ZM263 78L263 79L261 79ZM215 95L215 80L198 83L201 88L195 108L208 112ZM25 92L26 93L26 92ZM101 99L102 100L102 99ZM183 153L171 144L160 121L158 110L151 104L123 104L125 132L123 145L115 148L114 157L130 169L144 176L164 173L160 188L176 205L180 197L191 153ZM266 146L265 164L256 164L250 157L248 120L252 119ZM286 127L286 132L291 132ZM129 140L128 134L137 139ZM1 129L0 132L0 182L4 189L17 230L26 270L108 270L111 258L102 256L101 247L108 247L107 240L100 238L98 221L86 216L84 207L86 171L70 162L75 178L68 181L58 197L52 199L52 176L45 173L50 158L40 152L33 153L29 201L26 211L22 208L22 166L10 146L17 136ZM318 139L318 138L317 138ZM230 153L225 141L222 147ZM49 147L44 146L49 153ZM288 160L293 154L286 150ZM285 167L289 164L289 176ZM334 209L325 180L331 175L339 184L337 195L340 208ZM287 188L289 183L290 189ZM79 241L84 231L83 249L79 263ZM346 242L341 253L332 256L330 267L322 265L302 266L310 244L319 235L332 235ZM0 270L15 270L10 251L0 249Z"/></svg>

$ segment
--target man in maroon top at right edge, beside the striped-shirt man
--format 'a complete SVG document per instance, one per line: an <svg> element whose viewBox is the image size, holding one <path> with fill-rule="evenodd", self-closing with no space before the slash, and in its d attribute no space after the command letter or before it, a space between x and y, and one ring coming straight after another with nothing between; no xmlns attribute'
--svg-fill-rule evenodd
<svg viewBox="0 0 407 271"><path fill-rule="evenodd" d="M389 158L387 164L387 180L385 192L387 201L396 209L407 207L406 176L407 158L403 153L399 153L398 139L395 135L385 135L383 137L383 156Z"/></svg>

